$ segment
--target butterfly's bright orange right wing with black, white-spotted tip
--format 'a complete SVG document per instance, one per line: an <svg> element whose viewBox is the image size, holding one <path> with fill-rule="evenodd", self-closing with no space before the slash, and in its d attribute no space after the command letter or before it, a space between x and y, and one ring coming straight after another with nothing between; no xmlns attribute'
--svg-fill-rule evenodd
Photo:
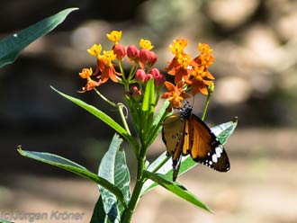
<svg viewBox="0 0 297 223"><path fill-rule="evenodd" d="M229 171L229 158L224 147L202 120L192 114L189 118L189 129L185 131L189 131L192 147L188 148L188 152L194 161L216 171Z"/></svg>

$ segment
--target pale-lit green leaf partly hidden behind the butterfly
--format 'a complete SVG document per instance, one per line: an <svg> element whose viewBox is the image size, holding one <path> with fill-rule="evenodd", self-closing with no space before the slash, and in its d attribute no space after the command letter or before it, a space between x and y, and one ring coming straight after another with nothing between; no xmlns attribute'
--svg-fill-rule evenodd
<svg viewBox="0 0 297 223"><path fill-rule="evenodd" d="M222 123L218 126L211 128L211 131L219 138L220 143L225 144L229 136L233 133L234 129L237 126L237 119ZM165 147L165 146L164 146ZM164 165L162 165L164 164ZM184 174L188 170L192 169L198 163L194 162L191 156L184 156L182 160L182 165L180 165L179 174ZM172 160L166 156L166 152L157 157L157 159L148 166L148 171L157 172L158 174L166 174L167 176L172 177ZM157 183L152 181L147 181L142 187L141 194L150 191L157 186Z"/></svg>

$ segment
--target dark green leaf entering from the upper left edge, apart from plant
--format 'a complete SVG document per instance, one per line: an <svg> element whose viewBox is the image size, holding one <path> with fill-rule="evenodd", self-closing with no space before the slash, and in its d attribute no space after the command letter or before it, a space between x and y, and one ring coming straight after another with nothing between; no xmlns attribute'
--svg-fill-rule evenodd
<svg viewBox="0 0 297 223"><path fill-rule="evenodd" d="M68 8L56 13L40 22L37 22L23 31L14 33L13 35L0 41L0 68L6 64L13 63L25 47L31 42L37 40L41 36L52 31L59 23L63 22L67 15L78 8Z"/></svg>

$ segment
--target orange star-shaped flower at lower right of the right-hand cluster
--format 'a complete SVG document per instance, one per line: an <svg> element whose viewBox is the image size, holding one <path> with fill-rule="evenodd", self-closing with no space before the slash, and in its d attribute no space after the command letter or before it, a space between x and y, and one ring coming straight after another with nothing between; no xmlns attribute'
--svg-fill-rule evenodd
<svg viewBox="0 0 297 223"><path fill-rule="evenodd" d="M211 73L205 68L200 66L193 67L191 72L191 76L186 76L184 78L184 82L187 85L192 85L192 93L193 95L201 92L202 94L207 95L207 86L211 85L214 77Z"/></svg>

